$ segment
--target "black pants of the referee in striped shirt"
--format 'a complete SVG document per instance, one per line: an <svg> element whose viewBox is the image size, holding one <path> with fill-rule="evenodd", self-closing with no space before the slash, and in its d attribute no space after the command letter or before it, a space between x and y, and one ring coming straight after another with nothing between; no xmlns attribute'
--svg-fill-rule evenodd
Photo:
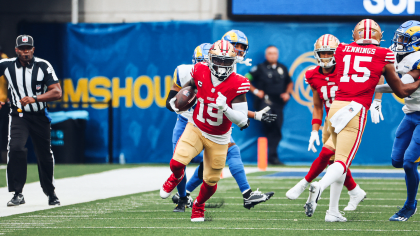
<svg viewBox="0 0 420 236"><path fill-rule="evenodd" d="M9 115L9 143L7 146L7 186L9 192L22 193L26 182L27 149L31 136L38 162L41 187L47 196L54 194L54 156L51 150L51 125L44 112L19 113L12 108Z"/></svg>

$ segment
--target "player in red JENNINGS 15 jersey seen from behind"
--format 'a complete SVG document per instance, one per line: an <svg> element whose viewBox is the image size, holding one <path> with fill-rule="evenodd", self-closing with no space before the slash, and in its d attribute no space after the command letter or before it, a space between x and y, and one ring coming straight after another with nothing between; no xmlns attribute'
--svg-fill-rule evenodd
<svg viewBox="0 0 420 236"><path fill-rule="evenodd" d="M394 68L394 53L379 47L382 31L370 19L360 21L353 31L354 42L340 44L335 51L338 90L328 113L327 126L335 146L335 162L319 182L309 187L305 213L312 216L324 189L331 185L327 222L345 222L338 210L346 172L359 148L366 124L366 109L372 104L375 86L381 75L399 97L407 97L420 86L420 72L409 72L415 80L403 84Z"/></svg>

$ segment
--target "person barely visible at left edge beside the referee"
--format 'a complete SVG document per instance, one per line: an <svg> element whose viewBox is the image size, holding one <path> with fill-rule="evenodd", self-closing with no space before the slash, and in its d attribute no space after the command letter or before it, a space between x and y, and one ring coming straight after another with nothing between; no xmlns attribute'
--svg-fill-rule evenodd
<svg viewBox="0 0 420 236"><path fill-rule="evenodd" d="M0 60L8 58L3 53L0 45ZM7 101L7 81L4 76L0 76L0 102ZM9 123L9 109L0 109L0 162L5 163L7 161L7 124Z"/></svg>

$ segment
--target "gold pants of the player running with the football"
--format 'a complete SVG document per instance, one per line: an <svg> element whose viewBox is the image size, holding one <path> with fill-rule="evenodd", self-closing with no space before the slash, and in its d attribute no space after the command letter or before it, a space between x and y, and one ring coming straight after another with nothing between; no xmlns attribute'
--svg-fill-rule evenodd
<svg viewBox="0 0 420 236"><path fill-rule="evenodd" d="M196 126L188 123L175 147L173 159L188 165L203 149L203 180L214 186L225 167L228 144L217 144L206 139Z"/></svg>

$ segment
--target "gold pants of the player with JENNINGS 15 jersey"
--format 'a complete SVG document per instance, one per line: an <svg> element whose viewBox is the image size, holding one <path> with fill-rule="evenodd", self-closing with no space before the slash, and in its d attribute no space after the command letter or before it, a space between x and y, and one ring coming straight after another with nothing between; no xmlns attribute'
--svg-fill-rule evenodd
<svg viewBox="0 0 420 236"><path fill-rule="evenodd" d="M334 132L335 128L331 126L329 119L341 108L349 105L350 102L335 100L328 113L328 129L331 133L332 142L335 147L335 161L340 161L347 170L353 161L359 145L362 141L363 131L366 126L367 111L362 107L360 112L349 121L340 133Z"/></svg>

